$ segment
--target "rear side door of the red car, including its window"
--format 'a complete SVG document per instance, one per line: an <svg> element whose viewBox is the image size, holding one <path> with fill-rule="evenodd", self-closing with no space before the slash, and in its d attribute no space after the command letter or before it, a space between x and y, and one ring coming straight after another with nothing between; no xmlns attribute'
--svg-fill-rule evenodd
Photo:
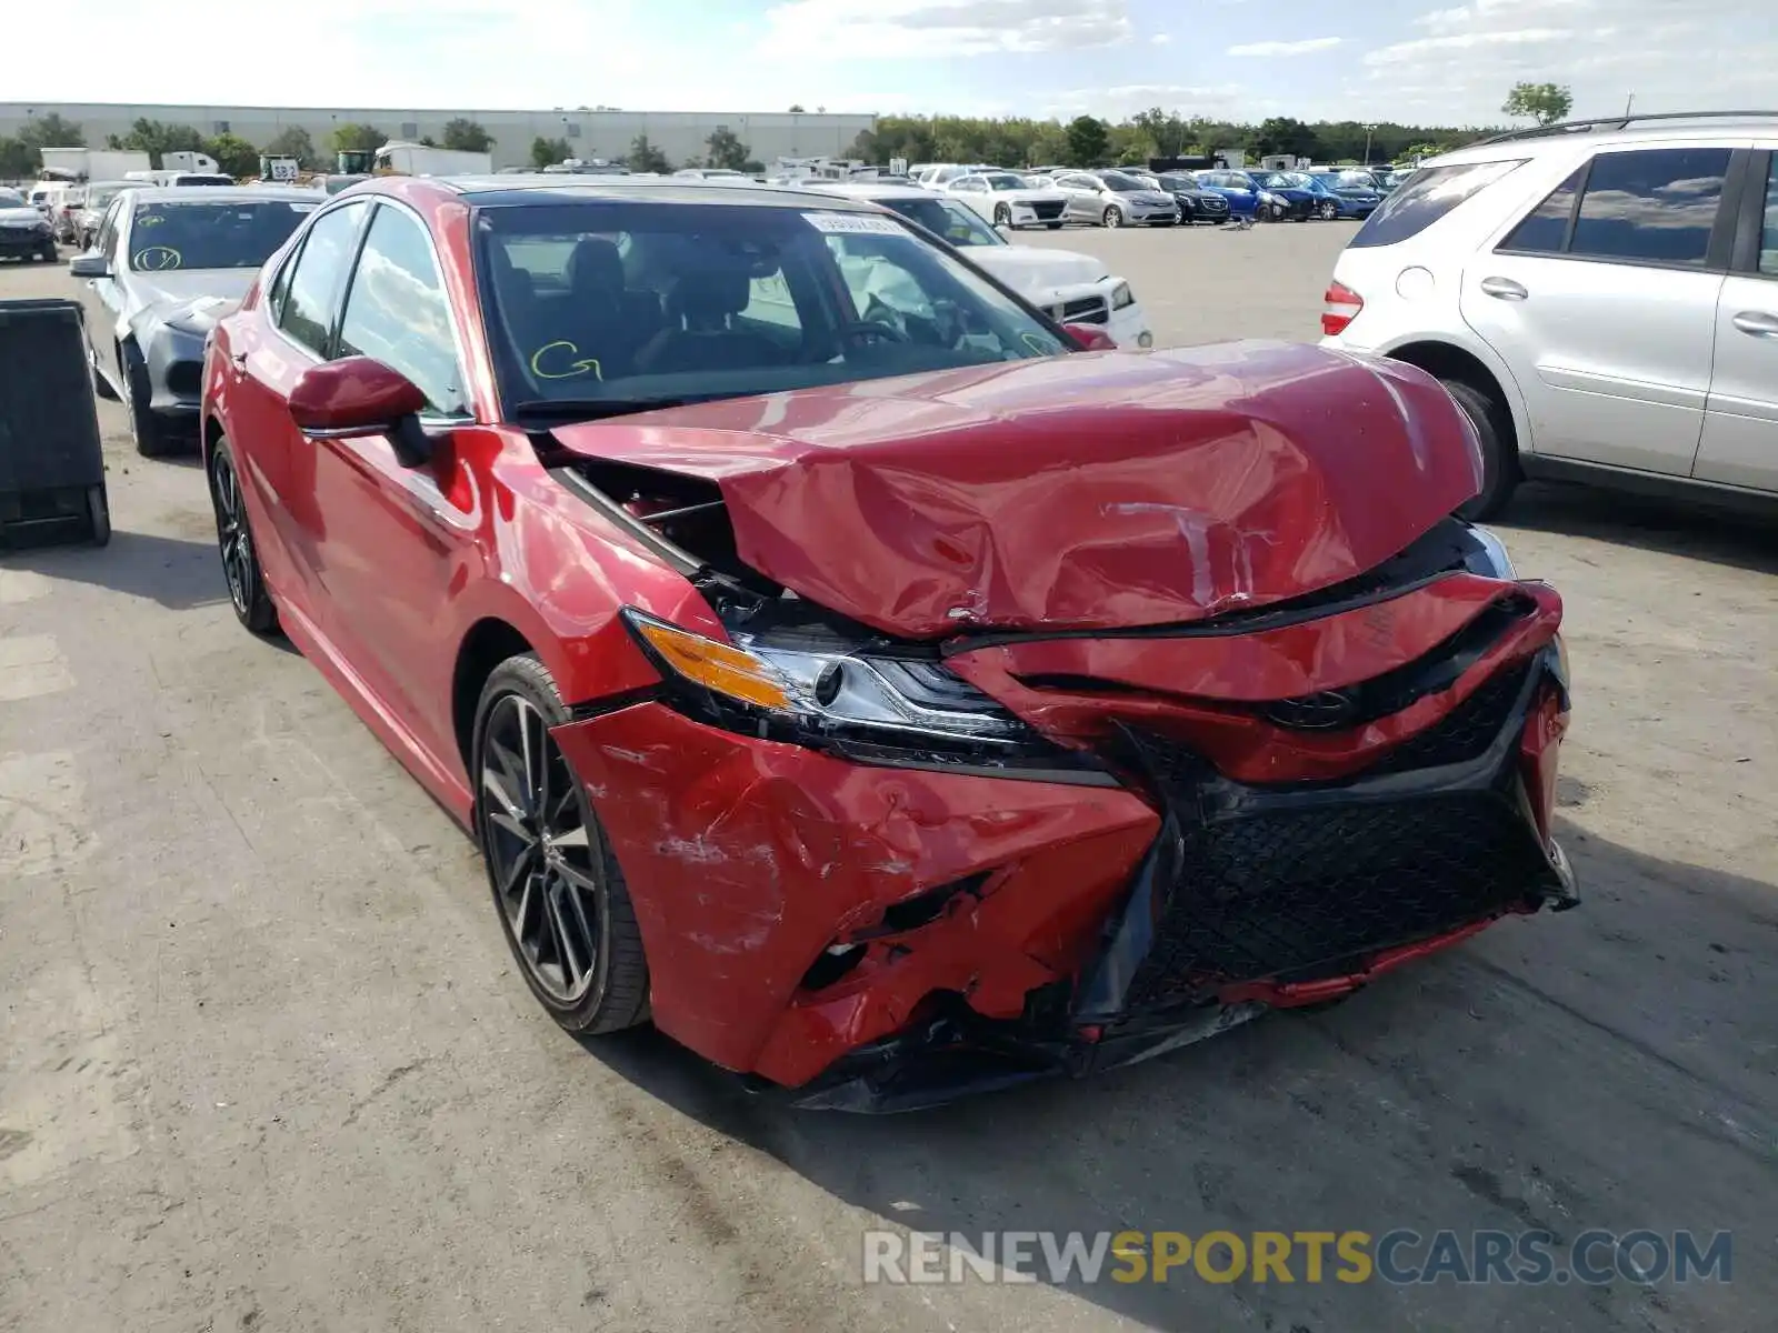
<svg viewBox="0 0 1778 1333"><path fill-rule="evenodd" d="M327 640L338 629L322 569L327 515L315 494L315 446L290 419L290 391L327 355L368 212L368 203L354 199L318 213L272 274L258 318L231 325L228 348L228 428L260 563L279 604Z"/></svg>

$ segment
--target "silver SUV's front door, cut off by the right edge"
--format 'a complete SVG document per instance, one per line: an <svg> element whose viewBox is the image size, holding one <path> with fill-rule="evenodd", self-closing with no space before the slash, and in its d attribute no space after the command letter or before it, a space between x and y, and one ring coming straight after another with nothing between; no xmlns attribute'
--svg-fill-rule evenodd
<svg viewBox="0 0 1778 1333"><path fill-rule="evenodd" d="M1693 476L1778 491L1778 144L1750 164Z"/></svg>

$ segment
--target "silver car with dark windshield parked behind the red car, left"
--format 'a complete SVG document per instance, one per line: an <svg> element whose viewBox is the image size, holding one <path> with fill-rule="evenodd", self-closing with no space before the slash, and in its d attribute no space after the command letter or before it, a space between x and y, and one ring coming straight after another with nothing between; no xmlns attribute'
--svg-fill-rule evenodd
<svg viewBox="0 0 1778 1333"><path fill-rule="evenodd" d="M204 338L290 233L325 203L288 185L123 190L69 261L92 384L130 411L137 453L196 444Z"/></svg>

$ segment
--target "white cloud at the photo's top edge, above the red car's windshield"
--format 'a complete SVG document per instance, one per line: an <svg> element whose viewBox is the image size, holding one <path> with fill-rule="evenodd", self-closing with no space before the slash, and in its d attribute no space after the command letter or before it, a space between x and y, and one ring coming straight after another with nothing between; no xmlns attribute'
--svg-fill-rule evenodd
<svg viewBox="0 0 1778 1333"><path fill-rule="evenodd" d="M1125 0L786 0L763 50L894 57L1072 52L1134 36Z"/></svg>

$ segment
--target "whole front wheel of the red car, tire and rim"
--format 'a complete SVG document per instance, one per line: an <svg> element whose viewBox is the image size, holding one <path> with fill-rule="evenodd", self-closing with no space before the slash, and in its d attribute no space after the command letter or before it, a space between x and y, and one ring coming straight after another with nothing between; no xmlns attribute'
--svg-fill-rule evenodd
<svg viewBox="0 0 1778 1333"><path fill-rule="evenodd" d="M549 736L565 722L555 677L533 654L487 677L469 759L475 835L532 994L571 1033L615 1033L647 1018L649 965L624 873Z"/></svg>

